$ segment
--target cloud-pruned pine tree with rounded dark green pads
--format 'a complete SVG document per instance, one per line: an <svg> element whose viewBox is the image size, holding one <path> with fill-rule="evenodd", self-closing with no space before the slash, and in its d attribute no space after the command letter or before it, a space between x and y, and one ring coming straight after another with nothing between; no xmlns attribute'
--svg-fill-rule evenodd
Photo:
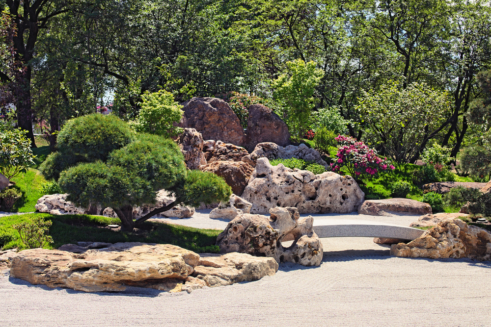
<svg viewBox="0 0 491 327"><path fill-rule="evenodd" d="M132 231L157 213L183 203L227 200L231 188L213 174L187 171L184 157L170 139L136 134L112 115L92 114L68 121L58 135L58 152L40 167L68 193L67 200L82 207L111 207L122 231ZM176 201L134 220L133 207L155 203L166 189Z"/></svg>

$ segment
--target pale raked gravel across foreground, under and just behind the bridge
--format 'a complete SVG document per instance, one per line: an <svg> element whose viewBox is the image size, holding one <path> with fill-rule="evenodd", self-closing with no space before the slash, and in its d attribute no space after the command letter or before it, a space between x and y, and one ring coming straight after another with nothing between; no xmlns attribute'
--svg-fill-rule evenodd
<svg viewBox="0 0 491 327"><path fill-rule="evenodd" d="M491 325L491 262L397 258L368 238L322 241L320 267L280 264L275 276L191 294L83 293L1 276L0 326Z"/></svg>

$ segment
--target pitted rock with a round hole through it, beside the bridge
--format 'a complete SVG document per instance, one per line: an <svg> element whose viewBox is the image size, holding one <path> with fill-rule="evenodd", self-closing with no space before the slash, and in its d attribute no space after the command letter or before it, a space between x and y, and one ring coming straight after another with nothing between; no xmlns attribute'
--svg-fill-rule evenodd
<svg viewBox="0 0 491 327"><path fill-rule="evenodd" d="M242 214L218 235L220 252L242 252L273 257L277 262L295 262L303 266L319 266L323 248L312 229L314 218L299 219L297 208L272 208L271 217ZM288 248L283 240L294 240Z"/></svg>

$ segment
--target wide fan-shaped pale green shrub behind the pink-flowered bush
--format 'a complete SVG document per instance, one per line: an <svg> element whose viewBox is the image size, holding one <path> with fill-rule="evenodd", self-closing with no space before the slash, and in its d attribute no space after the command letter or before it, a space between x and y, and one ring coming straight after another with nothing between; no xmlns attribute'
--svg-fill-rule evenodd
<svg viewBox="0 0 491 327"><path fill-rule="evenodd" d="M450 110L449 95L426 83L400 82L365 92L358 106L362 122L370 127L367 140L398 163L414 163Z"/></svg>

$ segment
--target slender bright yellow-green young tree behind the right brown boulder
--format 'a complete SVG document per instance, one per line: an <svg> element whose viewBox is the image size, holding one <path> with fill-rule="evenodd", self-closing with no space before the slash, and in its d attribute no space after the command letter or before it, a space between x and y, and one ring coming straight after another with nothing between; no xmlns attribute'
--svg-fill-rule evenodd
<svg viewBox="0 0 491 327"><path fill-rule="evenodd" d="M324 72L316 69L313 61L305 63L297 59L286 65L289 74L282 74L271 83L273 98L283 103L280 117L283 117L290 134L300 140L310 126L315 88Z"/></svg>

